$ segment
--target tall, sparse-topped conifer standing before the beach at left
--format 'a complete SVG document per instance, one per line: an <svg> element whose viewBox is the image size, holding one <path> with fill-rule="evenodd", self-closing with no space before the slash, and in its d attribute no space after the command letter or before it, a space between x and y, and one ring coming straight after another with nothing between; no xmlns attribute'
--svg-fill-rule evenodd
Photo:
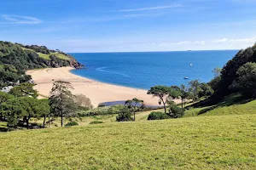
<svg viewBox="0 0 256 170"><path fill-rule="evenodd" d="M73 94L70 89L73 89L70 82L56 81L51 89L49 98L50 111L55 116L61 116L61 127L63 127L63 118L72 119L77 117L77 105L74 102Z"/></svg>

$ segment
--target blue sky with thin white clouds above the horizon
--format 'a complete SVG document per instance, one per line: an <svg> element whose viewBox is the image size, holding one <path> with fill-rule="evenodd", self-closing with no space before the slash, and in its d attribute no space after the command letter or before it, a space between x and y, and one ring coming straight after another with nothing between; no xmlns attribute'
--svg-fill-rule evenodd
<svg viewBox="0 0 256 170"><path fill-rule="evenodd" d="M65 52L240 49L256 0L4 0L0 39Z"/></svg>

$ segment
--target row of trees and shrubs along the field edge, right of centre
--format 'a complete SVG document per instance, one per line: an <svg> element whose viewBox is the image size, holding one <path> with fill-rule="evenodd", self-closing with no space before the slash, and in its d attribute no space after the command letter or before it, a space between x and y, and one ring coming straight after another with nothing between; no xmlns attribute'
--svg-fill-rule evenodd
<svg viewBox="0 0 256 170"><path fill-rule="evenodd" d="M189 82L189 86L154 86L148 90L148 94L159 98L159 105L163 105L164 108L164 113L152 112L148 116L148 120L160 120L182 117L187 100L196 102L201 98L211 96L213 90L209 84L195 80ZM180 99L181 105L177 105L174 99ZM141 111L143 107L143 100L129 99L125 102L125 108L119 113L116 120L118 122L135 121L136 112Z"/></svg>

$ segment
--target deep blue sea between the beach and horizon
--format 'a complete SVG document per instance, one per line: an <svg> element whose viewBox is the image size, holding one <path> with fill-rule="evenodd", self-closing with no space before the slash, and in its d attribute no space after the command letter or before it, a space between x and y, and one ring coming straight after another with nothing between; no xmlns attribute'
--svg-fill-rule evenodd
<svg viewBox="0 0 256 170"><path fill-rule="evenodd" d="M212 70L223 67L237 52L77 53L72 55L86 68L72 72L100 82L143 89L187 84L195 79L209 82L213 77Z"/></svg>

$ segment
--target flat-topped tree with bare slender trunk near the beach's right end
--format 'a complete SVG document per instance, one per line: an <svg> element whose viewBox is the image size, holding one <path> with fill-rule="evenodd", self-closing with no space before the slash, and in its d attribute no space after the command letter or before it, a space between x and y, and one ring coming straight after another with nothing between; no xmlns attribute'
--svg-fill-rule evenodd
<svg viewBox="0 0 256 170"><path fill-rule="evenodd" d="M152 94L155 97L160 98L159 104L163 104L166 113L166 102L168 101L170 88L166 86L154 86L148 90L148 94Z"/></svg>

